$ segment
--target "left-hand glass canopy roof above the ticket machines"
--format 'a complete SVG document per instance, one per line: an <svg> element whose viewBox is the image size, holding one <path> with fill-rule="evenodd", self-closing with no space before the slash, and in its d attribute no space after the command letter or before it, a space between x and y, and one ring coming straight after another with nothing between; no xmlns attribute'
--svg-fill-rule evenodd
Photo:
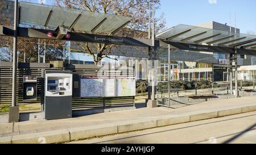
<svg viewBox="0 0 256 155"><path fill-rule="evenodd" d="M127 25L132 18L119 15L100 14L85 10L19 2L20 24L42 27L64 25L69 29L89 33L114 33Z"/></svg>

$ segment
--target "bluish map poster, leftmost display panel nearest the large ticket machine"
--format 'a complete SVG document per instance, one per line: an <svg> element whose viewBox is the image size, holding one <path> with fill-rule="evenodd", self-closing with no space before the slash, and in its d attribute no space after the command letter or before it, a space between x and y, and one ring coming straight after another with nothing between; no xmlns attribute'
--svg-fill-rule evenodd
<svg viewBox="0 0 256 155"><path fill-rule="evenodd" d="M80 97L102 97L103 79L80 79Z"/></svg>

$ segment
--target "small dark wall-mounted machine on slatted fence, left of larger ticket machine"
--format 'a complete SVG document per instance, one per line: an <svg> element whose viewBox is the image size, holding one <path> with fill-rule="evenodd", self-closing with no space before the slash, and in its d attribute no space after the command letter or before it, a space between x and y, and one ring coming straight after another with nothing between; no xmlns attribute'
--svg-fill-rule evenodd
<svg viewBox="0 0 256 155"><path fill-rule="evenodd" d="M35 75L23 76L23 101L36 100L37 94L37 78Z"/></svg>

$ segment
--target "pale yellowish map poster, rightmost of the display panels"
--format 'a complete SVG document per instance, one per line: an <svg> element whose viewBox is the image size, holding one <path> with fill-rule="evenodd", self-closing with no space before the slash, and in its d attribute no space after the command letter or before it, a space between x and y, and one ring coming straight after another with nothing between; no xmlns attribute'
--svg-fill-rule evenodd
<svg viewBox="0 0 256 155"><path fill-rule="evenodd" d="M117 79L117 96L135 96L136 81L133 79Z"/></svg>

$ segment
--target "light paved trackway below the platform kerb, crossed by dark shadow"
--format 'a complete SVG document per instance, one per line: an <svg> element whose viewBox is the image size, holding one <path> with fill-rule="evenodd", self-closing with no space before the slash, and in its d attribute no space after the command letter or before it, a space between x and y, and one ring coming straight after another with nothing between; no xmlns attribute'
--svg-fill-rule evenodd
<svg viewBox="0 0 256 155"><path fill-rule="evenodd" d="M256 144L256 112L199 120L71 144Z"/></svg>

